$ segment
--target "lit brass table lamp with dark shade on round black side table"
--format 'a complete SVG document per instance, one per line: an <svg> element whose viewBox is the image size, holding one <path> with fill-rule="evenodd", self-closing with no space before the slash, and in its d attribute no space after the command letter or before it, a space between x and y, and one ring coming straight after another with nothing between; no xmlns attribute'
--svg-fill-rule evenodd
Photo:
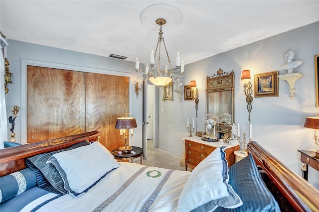
<svg viewBox="0 0 319 212"><path fill-rule="evenodd" d="M133 117L128 116L128 112L125 112L124 117L116 119L115 128L120 129L120 135L123 140L125 140L125 146L121 146L119 149L123 154L130 154L133 149L132 146L127 145L128 139L133 137L133 128L138 127L136 120Z"/></svg>

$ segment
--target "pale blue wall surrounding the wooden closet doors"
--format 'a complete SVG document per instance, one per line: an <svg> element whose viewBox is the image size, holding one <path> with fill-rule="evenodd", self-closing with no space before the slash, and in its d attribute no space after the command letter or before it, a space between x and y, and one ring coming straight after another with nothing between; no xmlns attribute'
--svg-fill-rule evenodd
<svg viewBox="0 0 319 212"><path fill-rule="evenodd" d="M10 72L14 76L13 84L8 85L9 92L6 95L7 116L12 115L11 107L17 105L20 107L18 117L15 119L15 139L18 143L26 142L25 120L26 108L24 99L21 95L26 93L23 85L26 79L21 79L21 75L25 76L23 69L23 61L32 61L35 64L50 64L58 67L71 67L71 70L80 70L87 72L97 72L105 74L114 74L130 77L130 112L136 117L138 128L134 129L134 136L131 144L142 147L142 95L136 99L134 91L135 63L115 58L102 57L97 55L85 54L64 49L52 48L42 45L20 42L16 40L7 40L7 58L10 63ZM49 65L49 66L50 66ZM143 64L141 64L143 68ZM110 82L112 83L112 82ZM22 87L21 87L22 86ZM119 114L121 115L121 114ZM21 125L22 123L22 125ZM10 125L8 123L8 137ZM22 134L21 134L22 133Z"/></svg>

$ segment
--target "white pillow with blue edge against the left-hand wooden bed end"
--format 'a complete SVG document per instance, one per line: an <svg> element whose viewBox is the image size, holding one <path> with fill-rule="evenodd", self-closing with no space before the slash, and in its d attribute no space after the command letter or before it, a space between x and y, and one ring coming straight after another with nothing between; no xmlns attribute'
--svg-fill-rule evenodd
<svg viewBox="0 0 319 212"><path fill-rule="evenodd" d="M99 142L56 153L48 159L49 162L59 171L64 188L70 194L84 192L107 172L120 166Z"/></svg>

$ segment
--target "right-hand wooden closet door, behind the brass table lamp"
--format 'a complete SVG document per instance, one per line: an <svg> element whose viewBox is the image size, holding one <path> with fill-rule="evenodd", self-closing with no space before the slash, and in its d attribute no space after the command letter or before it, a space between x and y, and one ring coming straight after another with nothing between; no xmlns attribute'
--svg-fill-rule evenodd
<svg viewBox="0 0 319 212"><path fill-rule="evenodd" d="M129 104L129 77L86 74L86 131L98 130L100 143L110 151L124 146L115 123Z"/></svg>

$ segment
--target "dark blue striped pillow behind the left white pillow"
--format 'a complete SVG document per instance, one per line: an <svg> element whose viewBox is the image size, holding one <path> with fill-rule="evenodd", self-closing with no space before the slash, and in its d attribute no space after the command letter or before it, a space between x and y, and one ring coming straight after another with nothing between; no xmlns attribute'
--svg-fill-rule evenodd
<svg viewBox="0 0 319 212"><path fill-rule="evenodd" d="M59 171L53 164L46 163L46 161L55 153L75 149L77 147L85 146L88 144L90 144L90 141L85 140L76 143L67 149L60 149L54 152L43 153L28 158L26 160L26 164L36 174L38 186L45 191L55 194L68 194L68 191L64 189L63 180L60 176Z"/></svg>

